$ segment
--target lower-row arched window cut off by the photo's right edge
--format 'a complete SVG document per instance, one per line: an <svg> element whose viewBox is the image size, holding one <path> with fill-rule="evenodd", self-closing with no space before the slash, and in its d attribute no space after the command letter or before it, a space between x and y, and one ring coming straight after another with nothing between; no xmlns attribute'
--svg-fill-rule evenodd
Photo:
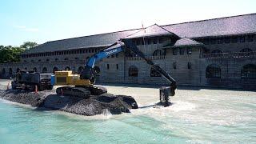
<svg viewBox="0 0 256 144"><path fill-rule="evenodd" d="M256 65L247 64L246 66L242 66L241 78L256 79Z"/></svg>

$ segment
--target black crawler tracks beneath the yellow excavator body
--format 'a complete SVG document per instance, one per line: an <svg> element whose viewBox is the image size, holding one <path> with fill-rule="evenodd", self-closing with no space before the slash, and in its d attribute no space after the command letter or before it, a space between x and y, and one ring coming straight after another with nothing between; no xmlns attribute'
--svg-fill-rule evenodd
<svg viewBox="0 0 256 144"><path fill-rule="evenodd" d="M90 95L100 95L106 92L106 88L102 86L62 86L56 89L56 93L59 95L69 95L77 98L90 98Z"/></svg>

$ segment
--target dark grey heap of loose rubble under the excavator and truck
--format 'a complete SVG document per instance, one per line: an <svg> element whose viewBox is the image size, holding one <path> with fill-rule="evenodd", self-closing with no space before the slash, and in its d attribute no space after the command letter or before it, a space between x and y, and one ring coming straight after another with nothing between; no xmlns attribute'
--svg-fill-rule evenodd
<svg viewBox="0 0 256 144"><path fill-rule="evenodd" d="M38 93L25 90L0 90L0 98L86 116L102 114L105 109L110 110L111 114L121 114L138 108L134 98L114 94L91 95L90 98L82 99L58 95L53 90L44 90Z"/></svg>

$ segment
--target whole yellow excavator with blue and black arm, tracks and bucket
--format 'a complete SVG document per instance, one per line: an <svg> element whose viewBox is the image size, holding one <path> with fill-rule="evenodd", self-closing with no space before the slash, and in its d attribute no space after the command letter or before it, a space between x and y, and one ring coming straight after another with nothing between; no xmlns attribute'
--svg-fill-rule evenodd
<svg viewBox="0 0 256 144"><path fill-rule="evenodd" d="M78 98L90 98L90 95L104 94L107 92L105 87L94 85L95 77L100 72L98 66L95 66L95 62L122 51L129 51L138 55L138 57L144 59L147 64L152 66L154 70L158 71L159 74L162 74L170 82L170 86L162 86L160 88L160 103L164 106L169 106L169 96L174 96L177 88L176 81L165 70L162 70L160 66L155 65L154 62L146 58L142 51L130 39L121 39L111 46L99 50L98 53L92 55L87 60L80 74L73 74L70 70L55 71L55 74L51 77L51 84L53 86L61 86L56 89L57 94L70 95Z"/></svg>

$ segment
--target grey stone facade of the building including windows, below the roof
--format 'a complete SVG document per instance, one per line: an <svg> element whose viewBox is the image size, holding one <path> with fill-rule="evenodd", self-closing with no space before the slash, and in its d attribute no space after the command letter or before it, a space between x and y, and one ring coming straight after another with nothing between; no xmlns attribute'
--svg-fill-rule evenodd
<svg viewBox="0 0 256 144"><path fill-rule="evenodd" d="M146 54L180 86L215 86L256 88L256 35L233 34L191 38L202 45L174 46L173 36L132 38L139 50ZM1 77L10 78L16 70L35 69L53 73L54 70L74 70L85 65L91 55L102 46L22 55L22 62L0 64ZM167 84L142 58L122 52L104 58L96 64L101 74L97 82Z"/></svg>

